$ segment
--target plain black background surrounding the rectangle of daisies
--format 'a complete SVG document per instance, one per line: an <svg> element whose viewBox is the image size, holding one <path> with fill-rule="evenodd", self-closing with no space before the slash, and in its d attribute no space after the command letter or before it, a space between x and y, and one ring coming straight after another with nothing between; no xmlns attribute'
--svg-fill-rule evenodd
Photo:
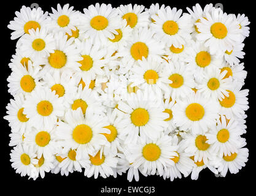
<svg viewBox="0 0 256 196"><path fill-rule="evenodd" d="M205 169L201 171L199 179L197 181L192 181L190 176L182 179L174 179L173 182L169 181L169 179L164 180L159 176L148 176L144 177L140 175L139 182L133 181L129 183L126 180L126 174L123 176L117 176L117 178L109 177L107 179L99 177L98 179L87 178L83 176L83 172L74 172L69 174L68 177L58 175L52 175L51 173L46 173L45 178L37 178L36 181L33 179L29 179L27 177L21 177L20 175L15 173L15 170L10 165L10 148L9 147L9 134L10 127L6 120L2 119L2 116L6 115L6 105L9 103L9 100L12 98L10 94L7 92L7 77L10 75L9 62L15 53L15 45L17 40L10 40L10 29L7 28L10 20L14 20L15 11L19 11L21 6L30 6L31 3L36 2L44 11L52 12L51 7L56 9L56 5L58 3L63 6L66 3L69 3L71 6L74 6L74 9L82 11L83 8L90 6L90 4L95 4L95 2L99 3L111 3L112 7L118 7L120 4L142 4L145 7L149 7L152 3L158 2L159 4L165 4L166 6L177 7L177 9L182 9L184 12L187 12L186 7L195 6L198 2L202 7L204 7L208 3L216 4L220 2L223 4L223 10L227 13L245 13L247 17L249 17L250 23L250 36L246 38L244 41L245 47L244 52L246 55L241 62L244 62L245 69L247 70L247 78L246 85L244 85L243 89L249 89L249 110L246 111L248 115L246 119L247 125L247 134L242 135L242 137L247 140L247 148L249 148L249 161L246 164L246 167L243 167L239 173L236 175L231 175L229 172L225 178L216 178L211 171ZM249 189L253 189L253 184L255 181L255 162L253 161L255 157L255 126L254 126L254 110L255 110L255 97L253 95L255 88L255 6L252 5L252 1L185 1L185 0L176 0L176 1L5 1L1 2L1 97L3 97L3 101L1 101L1 153L0 153L0 162L1 162L1 170L0 175L3 179L1 184L1 189L7 189L7 185L10 185L12 188L11 192L18 190L18 192L26 194L36 194L31 187L36 187L37 192L44 192L44 194L50 194L52 191L58 191L61 193L62 191L71 190L74 194L81 192L82 195L87 195L89 192L93 195L108 195L101 194L101 187L109 186L109 187L123 187L126 188L128 186L155 186L156 193L152 195L171 195L171 194L182 194L184 191L188 191L190 194L210 194L211 192L217 192L218 194L222 194L223 192L236 192L239 189L244 193L249 193ZM22 189L20 189L22 187ZM29 190L30 189L30 190ZM50 190L50 191L49 191ZM2 190L3 191L3 190ZM109 194L114 195L114 194ZM117 195L117 194L116 194ZM126 194L122 194L126 195ZM130 195L149 195L149 194L130 194Z"/></svg>

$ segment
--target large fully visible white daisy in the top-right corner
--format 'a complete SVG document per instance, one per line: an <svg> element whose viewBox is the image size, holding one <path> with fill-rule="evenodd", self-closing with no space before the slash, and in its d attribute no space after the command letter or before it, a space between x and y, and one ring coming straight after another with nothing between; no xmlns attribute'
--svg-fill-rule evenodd
<svg viewBox="0 0 256 196"><path fill-rule="evenodd" d="M196 23L200 34L196 38L204 41L211 54L221 51L231 51L237 42L241 42L241 29L233 15L223 13L222 9L206 12L206 18L201 17Z"/></svg>

